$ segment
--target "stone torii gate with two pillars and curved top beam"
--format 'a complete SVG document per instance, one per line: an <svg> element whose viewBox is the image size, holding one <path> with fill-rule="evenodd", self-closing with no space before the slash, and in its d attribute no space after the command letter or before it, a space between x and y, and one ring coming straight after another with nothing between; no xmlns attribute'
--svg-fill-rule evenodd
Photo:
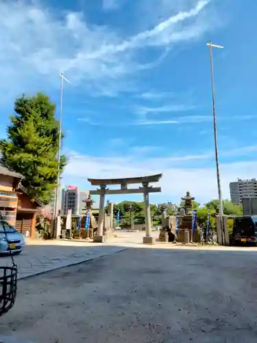
<svg viewBox="0 0 257 343"><path fill-rule="evenodd" d="M145 237L143 243L154 244L155 239L151 237L151 212L149 204L149 193L158 193L161 191L160 187L149 186L150 182L158 182L162 174L143 176L139 178L109 178L109 179L95 179L88 178L88 182L92 186L99 186L97 190L90 191L90 196L100 196L99 202L99 222L97 236L94 237L94 241L105 241L106 237L103 236L103 218L104 218L104 203L106 194L132 194L143 193L145 201ZM142 184L142 187L127 188L127 185ZM106 186L120 185L121 189L108 189Z"/></svg>

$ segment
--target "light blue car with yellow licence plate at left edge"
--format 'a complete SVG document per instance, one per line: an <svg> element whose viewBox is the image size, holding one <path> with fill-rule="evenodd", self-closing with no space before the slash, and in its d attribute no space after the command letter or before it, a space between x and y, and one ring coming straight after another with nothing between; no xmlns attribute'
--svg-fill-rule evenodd
<svg viewBox="0 0 257 343"><path fill-rule="evenodd" d="M19 254L24 246L25 241L23 235L21 235L14 226L8 224L8 222L0 220L0 254L6 254L6 252L9 252L10 250Z"/></svg>

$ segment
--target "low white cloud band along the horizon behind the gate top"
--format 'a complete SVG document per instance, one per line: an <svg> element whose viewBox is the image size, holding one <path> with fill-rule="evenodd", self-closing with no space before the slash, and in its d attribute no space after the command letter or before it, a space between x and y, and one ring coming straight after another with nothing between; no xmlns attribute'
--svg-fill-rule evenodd
<svg viewBox="0 0 257 343"><path fill-rule="evenodd" d="M211 158L211 160L210 160ZM192 167L194 161L204 160L206 167ZM210 162L212 161L212 162ZM181 163L190 162L191 167ZM208 167L210 166L210 167ZM229 183L237 178L252 178L257 161L244 163L221 163L221 186L223 198L229 198ZM121 178L163 173L160 180L162 196L178 202L186 191L204 203L217 198L217 176L213 154L169 156L167 158L92 157L77 154L66 166L64 181L71 178ZM87 185L89 187L89 185Z"/></svg>

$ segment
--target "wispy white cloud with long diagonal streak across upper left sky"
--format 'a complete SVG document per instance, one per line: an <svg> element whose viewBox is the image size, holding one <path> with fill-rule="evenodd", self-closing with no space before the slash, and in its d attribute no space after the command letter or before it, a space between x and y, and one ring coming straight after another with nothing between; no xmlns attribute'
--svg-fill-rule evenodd
<svg viewBox="0 0 257 343"><path fill-rule="evenodd" d="M89 23L81 13L56 13L38 1L0 1L0 93L6 99L8 92L16 95L45 82L57 85L60 71L73 85L86 80L84 87L90 91L122 91L134 71L155 67L173 43L206 32L206 23L194 19L207 4L200 0L151 29L125 37ZM142 47L164 47L164 53L141 65L137 50Z"/></svg>

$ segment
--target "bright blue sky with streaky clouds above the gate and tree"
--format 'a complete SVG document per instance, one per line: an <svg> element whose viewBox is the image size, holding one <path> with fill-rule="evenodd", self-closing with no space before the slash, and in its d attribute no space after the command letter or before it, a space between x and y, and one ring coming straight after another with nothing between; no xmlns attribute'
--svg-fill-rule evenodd
<svg viewBox="0 0 257 343"><path fill-rule="evenodd" d="M0 134L22 93L44 91L59 115L64 71L63 185L163 173L151 202L217 198L211 39L225 47L213 55L228 198L230 181L256 177L256 15L252 0L0 0Z"/></svg>

